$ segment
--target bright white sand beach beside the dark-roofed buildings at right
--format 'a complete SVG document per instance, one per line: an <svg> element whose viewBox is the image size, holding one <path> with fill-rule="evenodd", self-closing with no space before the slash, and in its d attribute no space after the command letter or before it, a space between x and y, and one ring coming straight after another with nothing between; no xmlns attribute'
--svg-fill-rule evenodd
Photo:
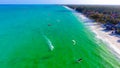
<svg viewBox="0 0 120 68"><path fill-rule="evenodd" d="M98 24L90 25L90 29L97 35L96 37L104 41L110 49L120 58L120 36L112 34L112 31L104 31Z"/></svg>

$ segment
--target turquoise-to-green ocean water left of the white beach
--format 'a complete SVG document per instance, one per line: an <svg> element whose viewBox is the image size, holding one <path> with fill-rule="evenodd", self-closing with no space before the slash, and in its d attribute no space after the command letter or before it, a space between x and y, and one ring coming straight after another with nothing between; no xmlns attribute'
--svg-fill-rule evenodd
<svg viewBox="0 0 120 68"><path fill-rule="evenodd" d="M119 68L119 62L63 6L0 5L0 68Z"/></svg>

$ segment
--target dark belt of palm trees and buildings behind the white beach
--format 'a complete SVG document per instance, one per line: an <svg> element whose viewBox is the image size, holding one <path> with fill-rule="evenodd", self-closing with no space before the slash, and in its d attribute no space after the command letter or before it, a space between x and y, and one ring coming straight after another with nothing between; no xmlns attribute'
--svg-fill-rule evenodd
<svg viewBox="0 0 120 68"><path fill-rule="evenodd" d="M107 30L114 30L116 34L120 34L120 6L71 5L69 7L95 22L104 24Z"/></svg>

